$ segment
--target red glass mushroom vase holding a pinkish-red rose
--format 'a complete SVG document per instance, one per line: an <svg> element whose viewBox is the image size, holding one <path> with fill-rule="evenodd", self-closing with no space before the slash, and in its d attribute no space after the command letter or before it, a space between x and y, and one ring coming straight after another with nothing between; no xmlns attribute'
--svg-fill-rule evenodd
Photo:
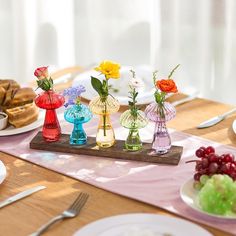
<svg viewBox="0 0 236 236"><path fill-rule="evenodd" d="M42 136L47 142L58 141L61 136L61 127L57 119L56 109L61 107L65 98L53 90L45 91L35 98L35 104L46 110Z"/></svg>

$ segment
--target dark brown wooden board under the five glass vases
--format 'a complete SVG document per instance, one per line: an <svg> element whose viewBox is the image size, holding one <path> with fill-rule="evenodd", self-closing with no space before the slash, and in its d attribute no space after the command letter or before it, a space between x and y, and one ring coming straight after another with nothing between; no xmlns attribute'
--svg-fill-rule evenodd
<svg viewBox="0 0 236 236"><path fill-rule="evenodd" d="M153 154L150 143L143 143L143 149L140 151L128 152L124 149L125 142L123 140L116 140L115 145L110 148L100 148L96 145L94 137L88 137L86 145L74 146L69 144L69 139L70 135L62 134L59 141L49 143L44 141L42 132L38 132L30 142L30 148L169 165L178 165L183 152L183 147L172 146L167 154Z"/></svg>

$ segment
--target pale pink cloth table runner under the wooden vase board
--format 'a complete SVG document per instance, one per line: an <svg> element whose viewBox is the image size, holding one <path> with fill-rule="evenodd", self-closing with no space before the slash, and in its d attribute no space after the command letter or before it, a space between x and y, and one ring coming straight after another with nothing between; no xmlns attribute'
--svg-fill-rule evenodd
<svg viewBox="0 0 236 236"><path fill-rule="evenodd" d="M94 118L85 126L88 134L96 132L96 122ZM113 120L113 124L117 127L116 138L124 139L127 130L119 127L118 119ZM71 125L64 121L61 125L63 133L70 133ZM0 137L0 150L108 191L161 207L236 235L236 220L220 219L199 213L187 206L179 194L181 185L193 177L195 164L185 164L185 161L194 159L196 148L212 145L219 153L232 152L234 154L235 148L171 131L173 144L183 146L184 152L178 166L167 166L31 150L29 142L37 132L38 130L35 130L20 135ZM153 125L150 124L141 130L141 137L144 137L144 141L150 141L152 133Z"/></svg>

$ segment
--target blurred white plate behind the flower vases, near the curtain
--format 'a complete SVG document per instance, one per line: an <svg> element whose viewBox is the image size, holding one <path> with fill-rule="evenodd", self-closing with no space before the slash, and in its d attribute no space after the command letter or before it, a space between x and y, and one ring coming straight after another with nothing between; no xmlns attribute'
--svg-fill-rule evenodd
<svg viewBox="0 0 236 236"><path fill-rule="evenodd" d="M144 82L144 87L139 90L139 95L137 98L138 104L148 104L154 101L154 92L152 80L152 70L149 66L137 66L135 68L129 66L123 66L120 69L121 77L119 79L110 79L109 85L112 85L113 88L118 89L118 92L112 92L111 94L118 99L121 105L128 105L128 96L129 96L129 80L131 78L130 69L134 69L136 76L142 79ZM82 84L85 86L86 92L82 94L87 100L91 100L95 96L98 96L97 92L93 89L91 85L91 76L94 76L98 79L104 79L103 75L95 70L89 70L84 73L79 74L73 81L73 86L78 86Z"/></svg>

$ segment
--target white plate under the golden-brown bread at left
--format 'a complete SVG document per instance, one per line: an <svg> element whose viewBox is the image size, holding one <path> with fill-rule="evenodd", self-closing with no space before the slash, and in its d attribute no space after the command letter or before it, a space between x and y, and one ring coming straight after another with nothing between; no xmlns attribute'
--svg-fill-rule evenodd
<svg viewBox="0 0 236 236"><path fill-rule="evenodd" d="M0 130L0 137L21 134L21 133L25 133L25 132L37 129L38 127L43 125L43 120L44 120L44 112L40 111L38 119L34 121L33 123L20 127L20 128L15 128L14 126L10 125L6 129Z"/></svg>

